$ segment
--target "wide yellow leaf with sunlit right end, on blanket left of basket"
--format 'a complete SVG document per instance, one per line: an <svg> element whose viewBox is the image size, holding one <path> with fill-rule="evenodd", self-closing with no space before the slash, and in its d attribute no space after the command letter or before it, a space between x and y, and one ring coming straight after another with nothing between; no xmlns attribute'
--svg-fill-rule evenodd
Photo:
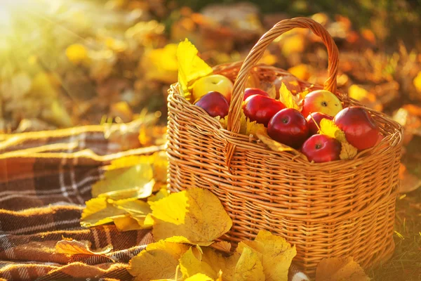
<svg viewBox="0 0 421 281"><path fill-rule="evenodd" d="M153 185L147 185L147 183L152 181L153 176L154 171L148 163L106 171L104 180L93 185L92 196L97 197L102 193L137 188L140 197L148 197L152 193Z"/></svg>

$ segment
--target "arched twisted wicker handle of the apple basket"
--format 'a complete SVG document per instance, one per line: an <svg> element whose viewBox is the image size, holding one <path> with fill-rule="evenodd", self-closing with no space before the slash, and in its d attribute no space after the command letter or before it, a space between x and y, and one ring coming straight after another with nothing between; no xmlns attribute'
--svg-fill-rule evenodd
<svg viewBox="0 0 421 281"><path fill-rule="evenodd" d="M336 77L338 75L338 47L333 41L328 31L319 22L316 22L310 18L291 18L288 20L281 20L271 30L263 34L259 39L258 43L253 46L250 53L248 53L246 60L241 65L238 76L234 82L234 89L232 91L231 104L229 105L227 129L233 133L239 133L240 131L240 116L241 116L241 105L243 103L244 89L248 75L253 67L262 58L263 53L267 46L279 37L284 32L292 30L295 27L308 28L312 30L314 34L319 36L328 49L328 79L324 83L324 89L336 93ZM227 143L227 165L231 161L232 155L234 155L235 145L234 143Z"/></svg>

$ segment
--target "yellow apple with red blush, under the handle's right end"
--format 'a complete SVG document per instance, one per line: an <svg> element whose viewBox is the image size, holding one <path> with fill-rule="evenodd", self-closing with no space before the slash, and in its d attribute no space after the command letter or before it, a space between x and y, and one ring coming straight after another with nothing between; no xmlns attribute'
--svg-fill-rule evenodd
<svg viewBox="0 0 421 281"><path fill-rule="evenodd" d="M309 116L312 112L321 112L335 117L342 110L342 103L334 93L326 90L317 90L307 93L302 100L302 115Z"/></svg>

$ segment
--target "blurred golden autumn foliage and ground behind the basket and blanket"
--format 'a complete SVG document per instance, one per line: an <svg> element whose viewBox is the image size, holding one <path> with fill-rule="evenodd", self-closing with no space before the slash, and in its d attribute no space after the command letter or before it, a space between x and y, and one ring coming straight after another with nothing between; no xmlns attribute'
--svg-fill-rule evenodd
<svg viewBox="0 0 421 281"><path fill-rule="evenodd" d="M410 193L398 200L394 258L370 274L419 280L420 0L0 1L0 133L131 122L142 110L165 124L180 40L189 38L210 65L230 63L276 22L299 15L338 44L340 91L405 128L401 192ZM326 79L326 49L307 30L276 39L262 63Z"/></svg>

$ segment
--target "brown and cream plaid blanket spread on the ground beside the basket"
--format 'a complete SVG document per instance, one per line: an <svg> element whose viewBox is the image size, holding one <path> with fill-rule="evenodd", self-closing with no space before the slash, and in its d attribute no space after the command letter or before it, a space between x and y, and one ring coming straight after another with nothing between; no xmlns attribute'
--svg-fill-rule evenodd
<svg viewBox="0 0 421 281"><path fill-rule="evenodd" d="M86 229L79 219L105 165L163 150L141 147L142 124L0 135L0 280L132 279L128 261L153 242L150 231L121 233L114 225ZM62 237L113 249L69 257L55 253ZM293 266L289 279L307 280Z"/></svg>

